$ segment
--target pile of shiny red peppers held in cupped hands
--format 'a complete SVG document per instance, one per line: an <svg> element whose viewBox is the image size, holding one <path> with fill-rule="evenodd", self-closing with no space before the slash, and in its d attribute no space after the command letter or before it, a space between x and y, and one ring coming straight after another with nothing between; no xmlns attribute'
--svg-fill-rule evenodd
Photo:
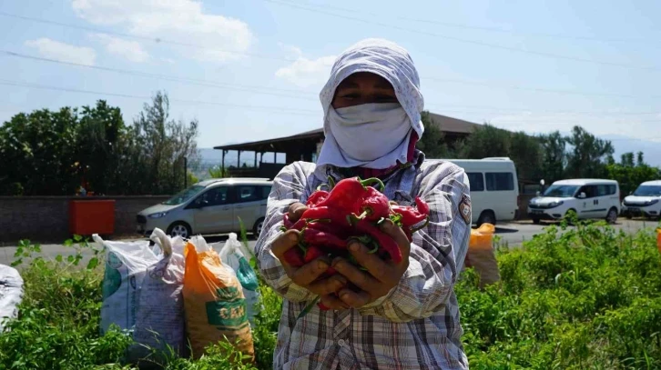
<svg viewBox="0 0 661 370"><path fill-rule="evenodd" d="M328 190L322 190L323 187ZM399 246L391 236L381 231L379 225L390 219L402 227L411 241L412 234L429 222L429 205L420 197L415 198L415 206L397 205L381 193L384 189L381 180L375 177L367 180L345 178L337 184L329 177L328 184L320 185L310 195L306 202L308 209L298 221L291 222L289 215L284 215L281 230L299 230L300 238L298 246L290 248L283 258L295 267L324 255L331 259L342 256L358 265L347 249L352 240L358 240L371 248L371 254L376 253L385 260L391 259L395 264L402 262ZM336 273L329 266L322 277ZM307 314L312 305L301 314ZM328 309L321 304L319 307Z"/></svg>

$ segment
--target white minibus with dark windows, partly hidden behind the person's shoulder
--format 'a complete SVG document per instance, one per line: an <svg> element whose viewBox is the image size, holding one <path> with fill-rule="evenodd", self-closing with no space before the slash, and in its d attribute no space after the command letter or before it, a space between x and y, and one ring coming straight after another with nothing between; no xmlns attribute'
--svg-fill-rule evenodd
<svg viewBox="0 0 661 370"><path fill-rule="evenodd" d="M473 224L496 225L514 220L518 209L519 185L510 158L447 159L466 171L471 183Z"/></svg>

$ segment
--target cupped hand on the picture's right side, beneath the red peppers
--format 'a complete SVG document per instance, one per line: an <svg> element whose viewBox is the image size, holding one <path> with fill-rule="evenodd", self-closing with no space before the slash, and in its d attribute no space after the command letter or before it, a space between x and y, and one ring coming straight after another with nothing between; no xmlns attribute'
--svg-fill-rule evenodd
<svg viewBox="0 0 661 370"><path fill-rule="evenodd" d="M329 297L322 296L322 304L342 303L352 308L360 308L384 295L388 295L392 288L399 284L402 275L409 268L411 244L402 228L392 224L390 220L386 220L381 224L381 231L392 237L397 245L400 246L402 250L402 262L395 264L392 261L384 261L377 254L369 254L369 248L360 242L352 242L349 245L351 255L367 271L361 271L359 266L352 265L349 261L341 257L335 258L332 266L338 273L345 276L350 283L356 285L360 291L355 292L346 287L341 288L338 292L339 299L335 298L339 302L332 302L329 300Z"/></svg>

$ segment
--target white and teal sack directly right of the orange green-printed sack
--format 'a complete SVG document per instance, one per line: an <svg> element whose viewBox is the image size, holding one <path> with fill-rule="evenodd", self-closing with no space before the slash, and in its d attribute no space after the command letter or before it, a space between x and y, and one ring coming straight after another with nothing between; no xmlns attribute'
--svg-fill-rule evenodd
<svg viewBox="0 0 661 370"><path fill-rule="evenodd" d="M255 270L248 262L251 255L248 249L239 242L235 233L229 234L228 241L219 250L220 261L229 265L239 279L243 296L246 298L248 321L250 325L254 326L255 315L261 307L259 307L259 280Z"/></svg>

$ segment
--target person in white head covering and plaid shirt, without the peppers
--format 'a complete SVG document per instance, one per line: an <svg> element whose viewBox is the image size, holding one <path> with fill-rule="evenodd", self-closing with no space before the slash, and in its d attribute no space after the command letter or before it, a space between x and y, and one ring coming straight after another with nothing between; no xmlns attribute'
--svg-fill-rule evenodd
<svg viewBox="0 0 661 370"><path fill-rule="evenodd" d="M287 165L275 178L256 245L262 275L284 297L274 368L468 368L453 292L470 235L468 179L462 168L425 161L415 149L424 131L419 88L411 57L385 40L363 40L333 65L320 94L326 139L319 160ZM398 204L420 196L430 205L430 223L412 243L391 222L381 226L400 245L401 264L358 243L349 245L351 255L367 271L342 258L300 268L281 258L298 239L296 231L279 231L282 216L299 218L329 175L379 176ZM329 265L339 274L320 279ZM360 290L344 288L348 282ZM317 295L331 310L315 306L297 320Z"/></svg>

